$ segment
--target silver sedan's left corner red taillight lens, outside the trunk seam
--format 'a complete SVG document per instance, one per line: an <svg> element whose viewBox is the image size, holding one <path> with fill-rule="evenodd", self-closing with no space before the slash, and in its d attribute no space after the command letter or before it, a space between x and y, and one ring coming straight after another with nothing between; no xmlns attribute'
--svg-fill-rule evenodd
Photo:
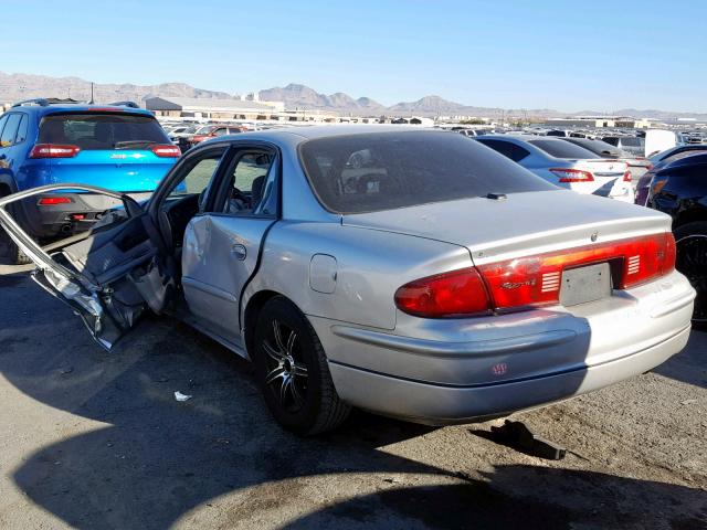
<svg viewBox="0 0 707 530"><path fill-rule="evenodd" d="M395 305L418 317L444 318L488 314L488 295L474 267L429 276L395 292Z"/></svg>

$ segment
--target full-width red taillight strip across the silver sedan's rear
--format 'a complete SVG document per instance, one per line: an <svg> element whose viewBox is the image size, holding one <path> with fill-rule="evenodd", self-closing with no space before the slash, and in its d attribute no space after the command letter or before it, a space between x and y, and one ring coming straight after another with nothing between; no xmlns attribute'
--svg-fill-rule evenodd
<svg viewBox="0 0 707 530"><path fill-rule="evenodd" d="M662 233L453 271L403 285L395 305L426 318L553 306L560 303L562 272L595 263L613 264L614 288L635 287L675 268L675 240Z"/></svg>

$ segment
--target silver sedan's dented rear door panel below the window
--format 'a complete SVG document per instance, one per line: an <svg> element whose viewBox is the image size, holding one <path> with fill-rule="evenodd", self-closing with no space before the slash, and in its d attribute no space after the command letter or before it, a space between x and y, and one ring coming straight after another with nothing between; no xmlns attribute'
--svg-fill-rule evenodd
<svg viewBox="0 0 707 530"><path fill-rule="evenodd" d="M241 344L240 298L257 266L274 219L204 214L184 234L182 287L192 312L221 337Z"/></svg>

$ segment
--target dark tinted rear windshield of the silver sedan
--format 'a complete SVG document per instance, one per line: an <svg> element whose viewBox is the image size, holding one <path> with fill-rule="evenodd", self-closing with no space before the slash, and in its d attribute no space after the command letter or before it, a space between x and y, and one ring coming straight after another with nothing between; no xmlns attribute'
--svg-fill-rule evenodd
<svg viewBox="0 0 707 530"><path fill-rule="evenodd" d="M493 149L454 132L336 136L306 141L299 152L319 201L344 214L556 189Z"/></svg>

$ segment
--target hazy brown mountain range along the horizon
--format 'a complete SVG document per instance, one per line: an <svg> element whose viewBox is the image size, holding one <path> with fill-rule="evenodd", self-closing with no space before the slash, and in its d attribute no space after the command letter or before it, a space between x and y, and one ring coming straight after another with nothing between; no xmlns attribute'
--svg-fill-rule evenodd
<svg viewBox="0 0 707 530"><path fill-rule="evenodd" d="M146 98L160 97L200 97L200 98L233 98L225 92L196 88L186 83L162 83L159 85L135 84L95 84L94 98L96 102L110 103L116 100L144 102ZM17 102L33 97L72 97L80 100L91 98L91 83L80 77L50 77L31 74L6 74L0 72L0 103ZM476 117L523 117L523 118L555 118L563 116L602 115L597 110L580 113L562 113L550 108L508 109L497 107L476 107L456 102L450 102L440 96L424 96L415 102L401 102L386 106L370 97L354 98L342 92L326 95L306 85L291 83L284 87L260 91L261 100L284 102L285 108L321 110L352 116L476 116ZM653 119L696 118L707 120L707 113L675 113L666 110L639 110L623 108L612 112L613 115L635 116Z"/></svg>

